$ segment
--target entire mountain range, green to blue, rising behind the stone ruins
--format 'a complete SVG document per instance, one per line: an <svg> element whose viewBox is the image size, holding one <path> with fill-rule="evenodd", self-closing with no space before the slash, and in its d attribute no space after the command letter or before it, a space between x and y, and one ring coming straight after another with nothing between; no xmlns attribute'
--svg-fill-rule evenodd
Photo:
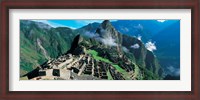
<svg viewBox="0 0 200 100"><path fill-rule="evenodd" d="M125 71L122 77L128 79L162 79L163 73L177 76L180 65L179 24L179 21L119 20L110 23L105 20L101 24L91 23L79 29L70 29L21 20L20 75L63 54L82 55L89 52L90 57L96 59L97 55L93 55L96 52L113 66L123 69L119 72ZM141 40L137 36L141 36ZM156 42L155 54L145 47L149 40ZM171 67L176 70L170 70Z"/></svg>

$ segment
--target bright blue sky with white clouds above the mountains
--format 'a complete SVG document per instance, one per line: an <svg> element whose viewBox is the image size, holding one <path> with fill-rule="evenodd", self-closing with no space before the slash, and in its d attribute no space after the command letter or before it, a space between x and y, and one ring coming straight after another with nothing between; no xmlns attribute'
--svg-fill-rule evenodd
<svg viewBox="0 0 200 100"><path fill-rule="evenodd" d="M72 29L77 29L77 28L83 27L85 25L88 25L89 23L103 22L103 20L32 20L32 21L43 22L54 28L55 27L69 27ZM116 20L110 20L110 21L112 22L112 21L116 21ZM165 22L165 20L157 20L157 21L161 22L161 23Z"/></svg>

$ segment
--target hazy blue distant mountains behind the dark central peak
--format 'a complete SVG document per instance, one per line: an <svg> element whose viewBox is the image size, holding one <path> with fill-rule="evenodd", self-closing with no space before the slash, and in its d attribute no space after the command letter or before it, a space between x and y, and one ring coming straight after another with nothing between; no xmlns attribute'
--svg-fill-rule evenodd
<svg viewBox="0 0 200 100"><path fill-rule="evenodd" d="M180 21L166 20L118 20L111 24L115 29L128 36L141 38L143 43L155 42L154 53L159 59L165 74L180 75ZM81 33L94 32L99 23L91 23L81 28ZM77 29L79 30L79 29ZM87 35L87 34L86 34Z"/></svg>

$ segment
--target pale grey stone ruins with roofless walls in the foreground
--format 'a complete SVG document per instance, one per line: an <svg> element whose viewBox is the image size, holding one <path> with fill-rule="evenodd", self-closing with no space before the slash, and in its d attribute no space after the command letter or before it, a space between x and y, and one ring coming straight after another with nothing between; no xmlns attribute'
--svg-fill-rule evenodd
<svg viewBox="0 0 200 100"><path fill-rule="evenodd" d="M114 80L124 80L122 75L117 72L111 64L97 61L88 54L79 56L67 54L62 55L57 59L47 61L43 65L39 66L37 70L33 71L36 73L35 75L29 73L27 76L28 79L34 80L81 79L80 77L82 75L89 75L91 77L96 77L97 79L108 79L108 71L111 73Z"/></svg>

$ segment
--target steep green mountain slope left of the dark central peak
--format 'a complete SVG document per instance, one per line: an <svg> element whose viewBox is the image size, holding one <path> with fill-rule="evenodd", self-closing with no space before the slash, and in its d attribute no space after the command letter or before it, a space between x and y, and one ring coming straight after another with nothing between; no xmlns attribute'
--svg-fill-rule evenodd
<svg viewBox="0 0 200 100"><path fill-rule="evenodd" d="M76 33L67 27L53 28L41 22L20 21L20 75L70 48Z"/></svg>

